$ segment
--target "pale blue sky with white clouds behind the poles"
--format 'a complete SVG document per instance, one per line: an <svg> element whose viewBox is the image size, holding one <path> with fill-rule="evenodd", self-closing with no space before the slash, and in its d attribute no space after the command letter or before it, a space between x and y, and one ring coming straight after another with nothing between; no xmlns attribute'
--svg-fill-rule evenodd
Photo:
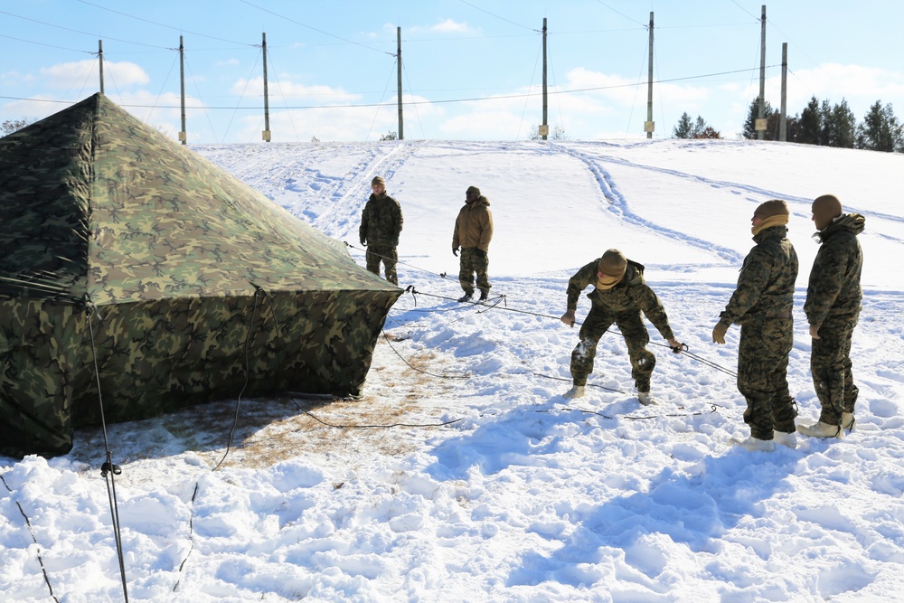
<svg viewBox="0 0 904 603"><path fill-rule="evenodd" d="M398 130L396 27L406 138L506 140L541 123L548 23L549 123L570 138L633 138L647 104L654 13L654 137L683 112L736 137L758 95L762 2L695 0L7 0L0 2L0 120L34 120L99 90L177 137L184 36L187 137L258 142L261 34L274 142L376 140ZM783 0L767 6L767 100L880 100L904 118L904 3Z"/></svg>

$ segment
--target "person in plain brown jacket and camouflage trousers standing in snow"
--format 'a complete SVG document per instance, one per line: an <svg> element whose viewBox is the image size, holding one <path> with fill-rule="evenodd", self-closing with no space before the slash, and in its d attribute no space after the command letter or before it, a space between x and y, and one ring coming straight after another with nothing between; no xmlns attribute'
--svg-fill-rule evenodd
<svg viewBox="0 0 904 603"><path fill-rule="evenodd" d="M452 255L458 255L461 247L461 258L458 261L458 283L465 295L458 298L460 302L471 301L474 296L474 275L477 275L477 288L480 289L480 301L485 301L490 293L490 281L486 271L490 266L487 251L493 239L493 213L490 212L490 200L480 194L476 186L468 186L465 192L465 206L458 212L455 231L452 232Z"/></svg>

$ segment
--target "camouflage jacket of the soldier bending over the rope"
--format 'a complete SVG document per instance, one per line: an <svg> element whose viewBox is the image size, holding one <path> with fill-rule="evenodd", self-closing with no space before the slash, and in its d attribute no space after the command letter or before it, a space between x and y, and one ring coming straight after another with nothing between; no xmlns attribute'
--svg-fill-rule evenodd
<svg viewBox="0 0 904 603"><path fill-rule="evenodd" d="M568 281L568 309L578 308L578 297L581 291L597 281L597 269L599 260L594 259ZM665 339L673 339L672 327L669 326L669 318L665 316L665 309L659 302L659 297L644 279L644 266L635 261L627 260L625 278L621 279L611 289L598 289L594 287L587 297L598 306L612 314L623 312L643 311L647 319L653 323L659 334Z"/></svg>

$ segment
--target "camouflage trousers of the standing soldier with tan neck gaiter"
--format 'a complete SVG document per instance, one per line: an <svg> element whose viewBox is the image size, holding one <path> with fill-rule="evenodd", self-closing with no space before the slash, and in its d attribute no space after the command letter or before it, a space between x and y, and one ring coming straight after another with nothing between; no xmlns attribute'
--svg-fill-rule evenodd
<svg viewBox="0 0 904 603"><path fill-rule="evenodd" d="M738 390L747 400L744 422L754 438L772 439L773 429L795 431L797 410L787 380L793 344L793 318L769 318L740 327Z"/></svg>

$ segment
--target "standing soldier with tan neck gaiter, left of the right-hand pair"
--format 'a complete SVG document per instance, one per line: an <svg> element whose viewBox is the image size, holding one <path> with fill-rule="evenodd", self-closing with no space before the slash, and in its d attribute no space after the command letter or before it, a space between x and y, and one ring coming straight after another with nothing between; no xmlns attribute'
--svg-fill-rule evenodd
<svg viewBox="0 0 904 603"><path fill-rule="evenodd" d="M750 437L737 444L772 450L775 442L796 447L794 399L788 391L788 353L794 344L794 287L797 254L787 239L788 209L773 199L759 205L751 219L753 240L740 269L738 287L712 329L712 341L725 343L730 325L741 325L738 390L747 400L744 422Z"/></svg>

